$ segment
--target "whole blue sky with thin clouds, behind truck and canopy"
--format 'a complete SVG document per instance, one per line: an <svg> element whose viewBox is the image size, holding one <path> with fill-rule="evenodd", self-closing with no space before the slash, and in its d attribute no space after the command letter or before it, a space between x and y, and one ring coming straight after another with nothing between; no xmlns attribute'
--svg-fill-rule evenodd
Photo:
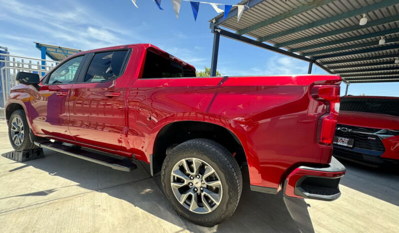
<svg viewBox="0 0 399 233"><path fill-rule="evenodd" d="M235 4L239 0L209 0ZM194 21L183 1L176 20L170 0L159 10L152 0L0 0L0 46L11 54L39 57L33 41L88 50L152 43L191 63L198 70L210 66L213 34L208 20L217 13L200 4ZM245 13L245 12L244 12ZM232 39L220 38L217 69L222 75L273 75L307 72L307 62L289 58ZM317 66L312 73L325 74ZM348 94L399 96L399 83L351 84ZM341 93L344 92L342 85Z"/></svg>

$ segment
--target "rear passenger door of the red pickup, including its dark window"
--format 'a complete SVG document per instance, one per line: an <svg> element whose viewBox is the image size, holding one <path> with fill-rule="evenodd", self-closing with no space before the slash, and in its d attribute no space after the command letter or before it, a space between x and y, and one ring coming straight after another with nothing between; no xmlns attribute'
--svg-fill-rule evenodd
<svg viewBox="0 0 399 233"><path fill-rule="evenodd" d="M70 89L69 131L76 141L119 150L124 126L124 72L131 49L91 53Z"/></svg>

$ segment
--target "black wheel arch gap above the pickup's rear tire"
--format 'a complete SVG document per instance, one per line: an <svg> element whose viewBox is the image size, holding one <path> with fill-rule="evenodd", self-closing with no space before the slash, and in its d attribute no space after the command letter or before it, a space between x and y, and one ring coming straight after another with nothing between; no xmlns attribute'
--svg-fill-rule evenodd
<svg viewBox="0 0 399 233"><path fill-rule="evenodd" d="M194 138L214 140L226 147L238 163L246 163L242 143L230 129L205 121L175 121L164 125L154 139L149 159L151 175L160 171L168 148Z"/></svg>

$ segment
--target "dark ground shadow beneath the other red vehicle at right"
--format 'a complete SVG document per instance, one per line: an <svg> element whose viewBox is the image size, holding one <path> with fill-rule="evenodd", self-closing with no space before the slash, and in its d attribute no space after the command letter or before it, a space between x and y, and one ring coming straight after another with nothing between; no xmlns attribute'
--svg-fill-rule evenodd
<svg viewBox="0 0 399 233"><path fill-rule="evenodd" d="M346 167L340 184L399 206L399 165L371 167L338 159Z"/></svg>

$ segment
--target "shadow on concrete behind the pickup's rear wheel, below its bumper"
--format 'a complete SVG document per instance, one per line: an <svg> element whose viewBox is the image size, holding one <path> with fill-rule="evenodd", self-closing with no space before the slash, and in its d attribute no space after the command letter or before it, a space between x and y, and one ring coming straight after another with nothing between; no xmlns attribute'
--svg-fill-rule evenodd
<svg viewBox="0 0 399 233"><path fill-rule="evenodd" d="M243 188L234 214L225 222L202 227L188 222L194 232L314 232L313 225L303 199L251 191L247 167L241 169ZM156 177L160 183L160 177Z"/></svg>

